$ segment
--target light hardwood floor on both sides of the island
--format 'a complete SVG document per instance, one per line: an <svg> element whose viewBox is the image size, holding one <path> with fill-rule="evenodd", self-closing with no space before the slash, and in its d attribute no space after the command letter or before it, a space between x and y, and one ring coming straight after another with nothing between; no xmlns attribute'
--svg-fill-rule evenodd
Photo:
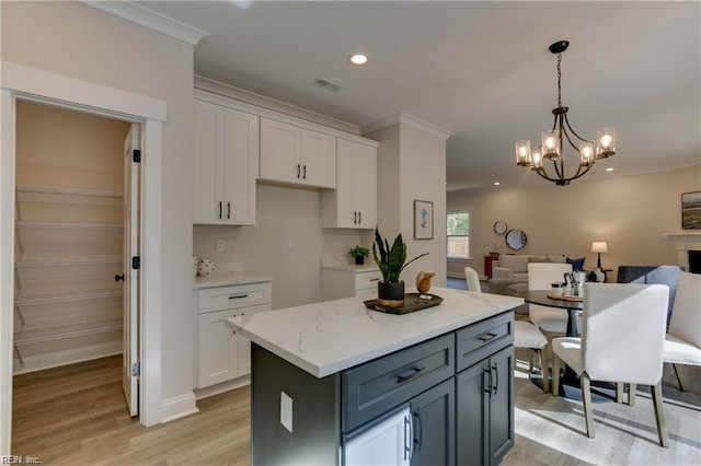
<svg viewBox="0 0 701 466"><path fill-rule="evenodd" d="M657 445L650 396L597 404L588 439L582 404L543 394L517 352L516 445L504 465L699 465L701 397L665 403L670 447ZM197 403L199 412L149 429L127 416L120 357L14 378L12 453L42 464L249 465L248 387ZM675 389L666 373L664 392ZM690 382L699 377L690 377Z"/></svg>

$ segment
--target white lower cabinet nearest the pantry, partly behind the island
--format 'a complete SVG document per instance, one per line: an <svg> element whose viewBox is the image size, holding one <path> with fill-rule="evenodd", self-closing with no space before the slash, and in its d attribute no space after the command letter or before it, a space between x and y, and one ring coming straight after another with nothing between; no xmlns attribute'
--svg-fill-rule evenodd
<svg viewBox="0 0 701 466"><path fill-rule="evenodd" d="M204 288L197 303L197 381L204 388L251 373L251 340L227 327L230 317L271 311L269 282ZM228 307L228 308L221 308Z"/></svg>

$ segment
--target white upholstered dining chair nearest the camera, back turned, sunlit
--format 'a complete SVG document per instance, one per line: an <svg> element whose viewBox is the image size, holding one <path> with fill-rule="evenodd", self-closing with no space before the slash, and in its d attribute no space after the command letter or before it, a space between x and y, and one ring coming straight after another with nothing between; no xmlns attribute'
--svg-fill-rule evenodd
<svg viewBox="0 0 701 466"><path fill-rule="evenodd" d="M586 283L582 336L552 340L553 395L564 362L581 376L587 436L594 438L591 381L643 384L651 386L659 444L667 446L662 370L668 296L664 284Z"/></svg>

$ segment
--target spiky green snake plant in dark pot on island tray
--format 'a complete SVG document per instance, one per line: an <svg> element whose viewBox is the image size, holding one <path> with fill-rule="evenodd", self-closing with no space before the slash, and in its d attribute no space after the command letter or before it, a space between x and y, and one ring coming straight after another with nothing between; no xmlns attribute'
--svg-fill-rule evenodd
<svg viewBox="0 0 701 466"><path fill-rule="evenodd" d="M399 276L404 270L404 267L427 254L421 254L406 261L406 243L402 240L402 234L397 235L392 247L390 247L387 238L383 240L380 236L379 229L375 229L372 256L382 273L382 281L377 284L378 303L380 305L388 307L402 307L404 305L404 282L399 279Z"/></svg>

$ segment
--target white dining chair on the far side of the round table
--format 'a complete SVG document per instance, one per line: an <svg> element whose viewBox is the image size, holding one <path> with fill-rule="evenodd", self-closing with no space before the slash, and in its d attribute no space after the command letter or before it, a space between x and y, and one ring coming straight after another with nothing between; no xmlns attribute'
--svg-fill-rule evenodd
<svg viewBox="0 0 701 466"><path fill-rule="evenodd" d="M531 263L528 265L528 291L550 290L550 283L564 281L564 275L572 271L572 264ZM562 310L529 305L529 318L537 327L551 334L565 335L567 313ZM576 317L577 329L582 327L582 317Z"/></svg>

